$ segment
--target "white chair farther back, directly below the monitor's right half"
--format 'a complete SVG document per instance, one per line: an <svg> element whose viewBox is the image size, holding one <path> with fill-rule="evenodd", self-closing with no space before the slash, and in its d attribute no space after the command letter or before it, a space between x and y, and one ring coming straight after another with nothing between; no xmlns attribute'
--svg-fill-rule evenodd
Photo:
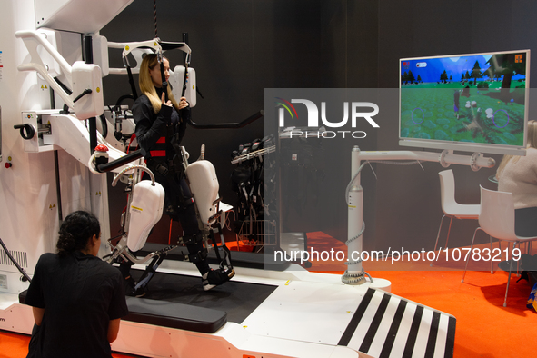
<svg viewBox="0 0 537 358"><path fill-rule="evenodd" d="M434 244L434 251L438 246L438 239L440 238L440 232L442 231L443 219L445 217L450 218L450 226L448 228L448 234L445 239L445 246L447 247L448 240L450 239L450 232L452 230L452 221L455 219L473 219L479 218L479 204L459 204L455 201L455 178L453 177L453 171L451 169L444 170L438 174L440 176L440 201L442 204L443 217L440 221L440 227L438 228L438 234L436 235L436 243ZM431 264L433 265L433 264Z"/></svg>

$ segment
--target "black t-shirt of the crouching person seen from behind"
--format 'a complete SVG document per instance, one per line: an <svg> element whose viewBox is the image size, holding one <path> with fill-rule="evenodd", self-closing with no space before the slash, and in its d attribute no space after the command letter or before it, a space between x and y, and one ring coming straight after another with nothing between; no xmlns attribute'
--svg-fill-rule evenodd
<svg viewBox="0 0 537 358"><path fill-rule="evenodd" d="M119 270L78 251L41 255L25 303L45 308L30 343L32 357L110 358L108 324L128 313Z"/></svg>

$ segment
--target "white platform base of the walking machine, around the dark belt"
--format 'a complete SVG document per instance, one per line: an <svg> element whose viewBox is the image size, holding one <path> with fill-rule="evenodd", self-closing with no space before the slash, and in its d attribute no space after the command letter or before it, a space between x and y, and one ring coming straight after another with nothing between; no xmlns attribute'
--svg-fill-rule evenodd
<svg viewBox="0 0 537 358"><path fill-rule="evenodd" d="M160 272L196 275L192 264L163 266ZM339 275L293 265L285 272L237 268L234 281L277 288L244 322L225 323L212 334L122 321L114 351L166 358L452 356L455 319L389 293L386 280L350 286ZM31 323L29 307L0 304L0 317L20 311ZM0 329L29 333L3 326L6 321Z"/></svg>

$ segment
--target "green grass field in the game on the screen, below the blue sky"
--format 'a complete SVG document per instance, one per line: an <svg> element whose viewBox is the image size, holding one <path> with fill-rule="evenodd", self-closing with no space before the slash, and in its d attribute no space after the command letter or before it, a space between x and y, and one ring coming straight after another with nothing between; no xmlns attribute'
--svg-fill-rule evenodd
<svg viewBox="0 0 537 358"><path fill-rule="evenodd" d="M473 82L402 85L401 136L522 146L525 90L516 88L521 85L516 80L511 89L501 89L501 81L483 82L481 88ZM459 118L453 108L455 90L462 90Z"/></svg>

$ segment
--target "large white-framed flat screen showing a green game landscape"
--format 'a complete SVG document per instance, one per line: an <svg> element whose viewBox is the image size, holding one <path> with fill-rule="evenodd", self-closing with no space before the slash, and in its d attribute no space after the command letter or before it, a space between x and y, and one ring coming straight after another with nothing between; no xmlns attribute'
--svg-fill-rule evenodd
<svg viewBox="0 0 537 358"><path fill-rule="evenodd" d="M400 60L399 144L525 154L530 50Z"/></svg>

